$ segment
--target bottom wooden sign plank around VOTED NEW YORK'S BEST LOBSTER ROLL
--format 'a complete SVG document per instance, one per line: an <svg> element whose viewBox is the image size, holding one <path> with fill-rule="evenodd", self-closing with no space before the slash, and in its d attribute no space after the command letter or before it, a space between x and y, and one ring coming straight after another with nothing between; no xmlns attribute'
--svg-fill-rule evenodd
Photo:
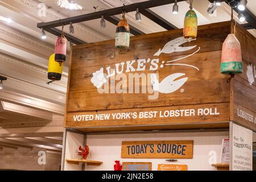
<svg viewBox="0 0 256 182"><path fill-rule="evenodd" d="M217 108L219 115L197 115L198 109L203 108ZM162 113L166 110L185 110L195 109L195 116L184 116L183 117L159 117L159 112ZM115 113L137 113L139 112L150 112L158 111L156 118L130 118L130 119L103 119L93 121L80 121L75 122L75 115L95 115L98 114L115 114ZM110 115L111 116L111 115ZM201 104L201 105L181 105L181 106L166 106L166 107L146 107L137 109L121 109L121 110L99 110L99 111L86 111L86 112L75 112L67 113L67 121L65 127L92 127L92 126L129 126L129 125L164 125L167 123L207 123L207 122L221 122L229 121L229 102L219 104ZM158 127L156 127L158 129Z"/></svg>

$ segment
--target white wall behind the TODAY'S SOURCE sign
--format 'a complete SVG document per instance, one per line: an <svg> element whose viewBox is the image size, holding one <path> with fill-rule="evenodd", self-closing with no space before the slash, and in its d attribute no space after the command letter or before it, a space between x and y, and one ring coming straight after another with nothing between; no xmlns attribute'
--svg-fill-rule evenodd
<svg viewBox="0 0 256 182"><path fill-rule="evenodd" d="M216 151L217 163L220 162L222 138L229 137L229 132L201 133L151 133L151 134L112 134L87 135L86 144L90 147L92 160L103 162L101 166L85 166L85 170L113 171L114 161L120 162L152 162L152 170L157 170L158 164L171 164L166 159L122 159L122 141L143 140L193 140L193 159L178 159L175 164L186 164L188 170L216 170L210 166L209 152ZM69 168L70 169L70 168Z"/></svg>

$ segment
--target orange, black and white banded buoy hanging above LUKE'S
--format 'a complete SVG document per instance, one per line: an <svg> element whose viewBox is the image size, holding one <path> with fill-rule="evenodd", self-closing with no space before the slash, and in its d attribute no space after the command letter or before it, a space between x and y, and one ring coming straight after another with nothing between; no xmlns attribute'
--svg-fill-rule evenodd
<svg viewBox="0 0 256 182"><path fill-rule="evenodd" d="M117 31L115 32L115 47L118 49L128 49L130 46L130 27L123 13L121 19L117 25Z"/></svg>

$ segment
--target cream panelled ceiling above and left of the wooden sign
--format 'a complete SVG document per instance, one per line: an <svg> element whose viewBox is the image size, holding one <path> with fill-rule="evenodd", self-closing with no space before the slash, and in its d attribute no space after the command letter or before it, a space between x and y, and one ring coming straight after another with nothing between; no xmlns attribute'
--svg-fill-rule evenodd
<svg viewBox="0 0 256 182"><path fill-rule="evenodd" d="M41 30L36 27L37 23L92 13L95 11L93 6L97 7L96 11L100 11L142 1L77 0L76 2L84 9L64 10L53 0L0 0L0 15L13 20L13 23L0 20L0 75L8 78L4 81L5 88L0 90L0 134L1 132L9 133L6 129L17 127L52 127L54 129L59 127L58 130L63 130L68 61L64 65L61 81L47 85L48 57L54 52L56 36L47 33L46 40L40 39ZM47 7L45 16L40 14L40 3L44 3ZM151 10L174 26L183 28L184 14L189 5L185 1L179 2L178 5L179 14L177 15L171 13L173 4L154 7ZM207 0L193 1L199 25L230 19L230 7L226 3L222 3L213 15L207 13L208 6ZM247 9L254 16L256 15L255 7L256 1L248 0ZM237 14L234 15L239 22ZM121 16L117 15L117 17ZM128 13L127 19L131 26L146 34L166 30L143 15L142 21L137 22L135 12ZM75 27L73 36L88 43L113 39L115 36L115 25L106 22L106 28L100 28L100 19L76 23L73 26ZM68 27L64 28L67 33ZM249 30L249 32L256 37L255 30Z"/></svg>

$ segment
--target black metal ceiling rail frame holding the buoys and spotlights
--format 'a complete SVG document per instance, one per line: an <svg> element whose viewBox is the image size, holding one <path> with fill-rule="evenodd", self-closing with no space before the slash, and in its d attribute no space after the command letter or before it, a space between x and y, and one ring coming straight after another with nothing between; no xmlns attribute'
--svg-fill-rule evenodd
<svg viewBox="0 0 256 182"><path fill-rule="evenodd" d="M177 0L176 2L182 2L185 0ZM214 2L214 0L209 0L209 2ZM228 3L229 0L220 0L220 2L226 2ZM119 15L122 13L123 10L126 11L126 13L132 12L132 11L137 11L139 9L139 13L143 14L147 18L151 19L153 22L159 24L163 28L166 28L166 30L173 30L176 29L173 24L168 22L166 19L163 19L161 16L155 14L153 11L150 10L152 7L157 7L157 6L163 6L163 5L168 5L171 3L175 3L175 0L150 0L150 1L144 1L144 2L139 2L139 3L133 3L131 5L127 6L122 6L122 7L115 7L113 9L108 9L108 10L102 10L102 11L96 11L94 13L89 13L89 14L84 14L84 15L79 15L79 16L73 16L70 18L64 18L60 20L55 20L52 22L46 22L46 23L38 23L38 28L43 28L44 31L47 31L53 35L60 36L61 31L58 30L55 27L60 27L63 25L68 25L71 22L74 23L80 23L80 22L86 22L89 20L93 19L101 19L102 15L104 16L105 20L108 20L110 23L113 23L117 25L119 22L119 19L115 17L114 15ZM239 13L238 8L236 7L234 9ZM245 10L243 11L243 15L246 17L246 21L249 23L246 24L246 29L252 29L256 28L256 19L255 16L249 11ZM130 32L133 35L140 35L144 34L141 30L138 30L138 28L135 28L133 26L130 26ZM75 38L75 36L65 34L65 37L68 39L69 42L72 42L74 44L84 44L83 40L80 40L78 38Z"/></svg>

